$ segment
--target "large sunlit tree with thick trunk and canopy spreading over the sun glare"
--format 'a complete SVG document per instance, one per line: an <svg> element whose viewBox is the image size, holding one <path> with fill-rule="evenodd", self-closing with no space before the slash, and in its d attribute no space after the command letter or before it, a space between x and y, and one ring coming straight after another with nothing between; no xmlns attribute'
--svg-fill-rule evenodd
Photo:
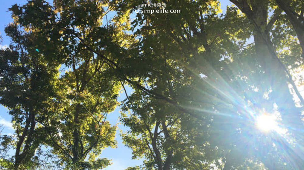
<svg viewBox="0 0 304 170"><path fill-rule="evenodd" d="M141 3L141 2L132 2L132 3L126 2L124 5L128 6L131 9L134 9L134 7L137 6L137 3ZM201 8L204 7L203 5L204 3L206 3L207 7L208 5L211 4L210 5L211 9L209 9L207 12L195 8L195 7L199 7L199 5L202 5ZM210 3L209 2L197 2L197 3L180 2L180 4L175 2L174 3L172 2L172 4L170 4L168 2L169 4L168 6L170 6L169 8L175 7L182 9L183 15L179 16L178 14L152 14L152 15L144 14L141 16L140 14L137 14L138 15L137 20L135 20L134 22L135 26L137 26L138 24L141 24L142 26L142 28L136 33L144 37L142 41L143 47L141 48L144 54L140 54L140 55L144 56L145 59L149 58L150 60L154 60L153 58L157 56L158 58L160 58L160 61L166 61L167 58L170 58L170 55L172 55L173 58L170 58L171 59L170 64L177 63L176 64L178 65L177 72L180 72L181 74L186 74L187 78L189 77L193 78L196 77L197 75L202 75L206 77L203 78L203 81L197 81L194 78L194 81L190 83L189 86L191 88L196 87L201 89L201 91L205 91L205 94L203 94L204 96L200 96L201 98L204 97L210 98L211 96L212 97L214 96L211 102L214 108L211 110L204 109L204 107L206 107L205 105L203 106L196 105L196 107L193 108L195 109L202 108L202 110L204 111L207 110L212 113L214 112L215 113L219 112L221 114L225 113L227 116L233 115L233 117L238 118L238 119L233 119L233 122L229 123L232 120L230 120L231 118L230 119L225 118L224 117L225 114L220 116L214 115L211 117L212 119L214 119L214 123L212 123L214 129L213 132L211 133L213 138L215 138L217 134L217 136L223 136L225 139L228 139L224 145L221 145L221 147L226 148L228 152L233 150L233 157L243 158L244 155L239 155L239 154L241 153L241 149L245 145L248 145L246 142L245 143L235 142L233 140L237 138L239 140L242 140L244 138L244 134L254 135L257 136L257 138L261 138L258 137L259 136L258 134L255 134L256 132L254 133L250 132L252 131L251 130L252 126L250 126L250 128L248 129L244 127L244 124L246 123L251 124L250 122L253 121L251 120L251 118L247 118L250 112L257 112L254 113L255 115L257 115L259 112L265 112L263 111L263 108L266 109L266 112L274 112L273 106L274 103L276 103L278 104L279 107L278 111L282 113L282 117L285 125L289 125L295 128L302 127L301 126L302 122L300 121L300 110L295 107L295 103L292 100L292 95L289 92L287 82L290 82L293 85L293 88L296 92L297 89L292 81L290 74L288 73L288 70L285 68L285 65L283 65L282 61L280 61L277 58L276 52L274 51L274 47L270 40L271 39L270 30L274 25L275 21L280 16L282 10L276 9L274 12L274 16L272 17L270 22L267 23L267 17L268 17L267 10L268 8L272 8L268 6L268 3L269 3L268 1L266 2L254 1L251 2L251 4L247 4L247 2L245 1L244 2L236 1L235 4L238 5L238 7L242 10L242 12L244 12L245 15L239 14L236 8L230 8L230 9L228 8L226 17L224 19L219 19L219 17L216 17L215 15L216 12L214 13L212 11L212 9L214 8L216 9L218 7L216 2L214 6L212 6L212 2ZM195 4L196 6L193 4ZM246 6L246 8L243 6ZM191 12L187 13L188 10ZM208 12L210 12L211 14L209 14ZM234 16L231 14L233 14ZM212 17L212 15L215 17ZM244 16L247 16L251 24L254 25L255 30L253 32L250 28L248 28L250 27L250 25L246 23L246 20L244 21L243 19ZM221 35L221 37L214 36L214 34L213 34L214 37L212 37L213 31L216 32L215 27L212 24L217 26L220 25L219 22L216 22L216 20L227 24L223 26L224 28L226 28L223 29L226 32L221 34L219 33L220 31L216 30L218 31L217 33ZM236 25L227 23L231 21L243 23L242 25L243 27L240 28L240 31L239 29L236 29ZM162 24L162 23L166 23L166 24ZM234 26L234 30L229 27L231 25L232 27ZM212 28L212 30L208 30L208 27ZM278 31L278 28L280 29L280 27L276 25L277 30L275 31ZM243 34L239 32L242 32ZM249 38L251 34L254 36L254 40L255 40L254 46L248 46L249 48L244 49L242 46L245 46L244 44L246 44L246 38ZM225 35L226 37L224 37ZM195 39L196 37L197 39ZM277 41L275 38L273 38L273 40ZM210 42L211 45L209 44ZM288 42L290 41L288 40ZM170 49L170 47L173 46L174 43L178 44L178 47L171 50L172 48ZM164 47L161 46L162 44L164 44L163 45ZM201 51L199 51L198 48L201 47L200 45L203 45ZM255 52L252 51L252 48L250 47L255 47L256 49ZM282 48L282 44L278 44L278 47ZM164 52L164 55L159 53L158 52L159 49L165 49L165 50L169 49L168 56L166 56L167 55L166 51ZM144 50L147 50L146 54ZM151 57L149 56L150 54ZM180 55L181 57L179 57ZM206 58L203 58L204 55L206 55ZM164 56L166 56L166 58ZM226 57L230 59L230 61L229 60L221 61L222 60L221 58L226 58ZM157 59L155 59L156 61L154 62L147 62L147 63L157 63ZM284 64L289 65L292 64L293 61L289 61L288 63L284 63ZM199 63L200 65L195 65L192 64L191 62ZM191 63L192 65L189 63ZM271 63L272 67L268 67L267 65L268 63ZM169 67L171 66L170 64L168 64ZM242 67L240 66L240 64L245 66ZM262 69L260 69L259 66L261 66ZM157 63L157 65L150 65L150 67L151 68L147 70L146 75L143 75L143 77L141 78L142 81L147 80L147 82L150 83L149 85L152 86L152 89L150 89L151 91L159 92L159 88L161 88L163 91L168 92L167 89L164 88L163 84L156 85L157 83L155 82L161 81L159 77L162 74L171 75L172 73L170 72L170 69L168 70L167 67L161 68L160 63ZM238 69L238 67L240 67L240 69ZM248 69L252 73L249 74L246 73ZM188 72L189 70L192 73L189 73ZM179 78L178 80L175 80L173 82L178 82L180 79L184 77L178 77L178 78ZM244 78L246 78L246 80L244 80ZM199 84L200 86L195 86L194 82ZM209 84L209 90L211 89L210 91L206 90L208 89L206 88L206 83ZM178 88L181 88L182 85L180 84L177 86ZM256 89L258 89L258 92L255 92L254 88L250 88L250 86L256 87ZM188 97L187 98L188 102L194 103L195 100L193 96L195 96L194 94L197 94L195 93L197 91L192 90L191 88L186 88L187 90L185 90L185 88L182 88L183 91L178 91L178 92L171 91L168 92L168 94L164 94L164 92L159 92L158 94L162 94L163 96L170 96L169 98L171 98L171 96L174 96L175 97L174 101L178 101L177 103L180 106L183 105L184 107L186 106L188 108L189 103L181 102L180 101L181 99L176 97L175 94L182 96L181 94L184 94L185 91L188 92L188 94L192 92L191 93L192 95L187 94L182 97L183 99ZM283 88L283 92L282 92L282 88ZM174 85L173 85L173 89L176 89ZM228 89L230 91L228 91ZM264 97L265 92L269 92L269 89L272 89L273 91L270 95L273 97L271 97L270 99ZM297 92L297 95L299 96L299 98L301 98L299 92ZM223 102L221 103L218 101L223 101ZM244 109L246 107L253 109L250 109L248 111ZM187 110L189 111L189 109ZM290 114L291 112L294 111L295 113ZM206 114L206 112L202 111L202 112L197 112L197 115L200 115L202 113ZM199 116L199 117L202 120L203 116ZM219 129L223 128L223 124L226 124L225 126L226 128L224 130L221 130L222 131L221 133L216 133L217 131L219 131ZM237 130L235 129L239 129L239 128L242 131L243 135L237 135L240 132L237 132ZM292 129L289 130L292 131ZM298 133L299 132L294 132L294 135ZM236 135L229 136L229 134L236 134ZM291 156L294 159L295 155L299 155L299 153L295 153L293 151L296 149L289 147L288 142L285 139L282 139L280 135L277 135L276 137L274 137L274 139L275 138L279 138L278 140L280 140L281 144L284 145L285 149L289 150L288 152L290 153L288 153L289 154L288 156ZM211 141L212 141L211 143L214 145L217 146L220 145L217 141L215 141L212 138ZM249 141L247 142L250 143ZM259 142L262 143L260 146L256 146L256 145L250 146L250 149L252 149L251 150L252 152L250 153L256 153L257 150L264 150L263 154L261 155L253 154L250 156L248 155L248 157L249 158L251 158L251 156L257 157L258 159L260 159L260 161L263 161L264 164L268 166L268 168L274 168L274 169L277 169L278 167L284 168L284 166L282 166L283 163L289 160L282 160L276 157L275 154L268 155L268 152L275 152L275 150L280 150L282 148L276 148L276 147L272 148L270 146L271 141L268 140L263 139L263 141L259 141ZM234 146L237 146L237 148ZM279 152L282 153L284 152L284 150L280 150ZM230 154L227 154L227 156L229 155ZM264 159L265 157L267 157L267 159ZM230 159L230 161L233 161L233 163L229 162L228 160L229 159L227 158L224 169L230 169L231 167L236 167L237 164L241 163L242 162L241 160L243 159L241 160ZM275 162L277 162L277 165L273 165L273 163L271 163L274 162L274 160L276 160ZM288 164L291 164L291 162L288 162ZM302 165L297 165L297 166L302 167Z"/></svg>

